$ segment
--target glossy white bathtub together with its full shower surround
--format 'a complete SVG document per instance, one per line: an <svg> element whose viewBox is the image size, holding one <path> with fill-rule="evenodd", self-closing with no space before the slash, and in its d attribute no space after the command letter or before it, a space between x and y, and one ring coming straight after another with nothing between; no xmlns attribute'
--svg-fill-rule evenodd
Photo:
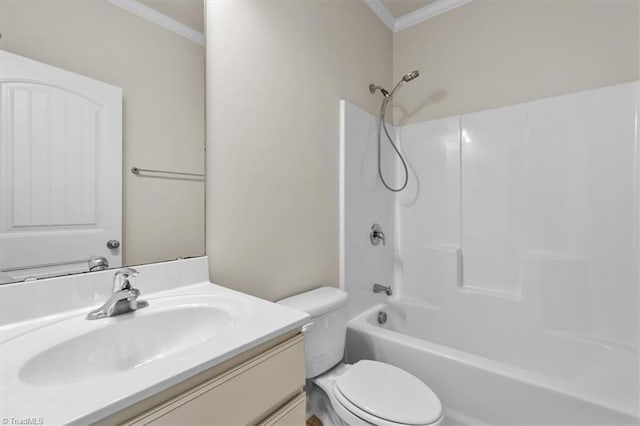
<svg viewBox="0 0 640 426"><path fill-rule="evenodd" d="M376 179L377 118L343 101L349 361L396 363L461 422L637 423L639 90L398 126L397 195ZM369 243L373 223L386 247Z"/></svg>

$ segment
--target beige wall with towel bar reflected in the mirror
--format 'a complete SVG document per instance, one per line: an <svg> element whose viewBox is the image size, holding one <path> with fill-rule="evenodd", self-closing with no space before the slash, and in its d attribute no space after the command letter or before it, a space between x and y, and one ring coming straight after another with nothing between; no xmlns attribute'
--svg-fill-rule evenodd
<svg viewBox="0 0 640 426"><path fill-rule="evenodd" d="M0 0L0 48L124 94L124 261L204 253L204 185L133 165L202 172L204 48L103 0Z"/></svg>

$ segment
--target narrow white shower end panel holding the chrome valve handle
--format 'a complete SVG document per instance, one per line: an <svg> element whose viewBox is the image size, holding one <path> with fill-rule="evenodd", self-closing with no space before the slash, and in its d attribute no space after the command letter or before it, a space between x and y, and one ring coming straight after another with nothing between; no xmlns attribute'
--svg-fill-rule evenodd
<svg viewBox="0 0 640 426"><path fill-rule="evenodd" d="M377 137L379 119L340 101L340 287L349 293L353 316L384 299L373 293L373 284L393 285L394 195L378 177ZM395 132L393 126L389 130ZM393 153L385 142L381 151L382 171L394 182ZM385 245L369 240L371 226L378 223Z"/></svg>

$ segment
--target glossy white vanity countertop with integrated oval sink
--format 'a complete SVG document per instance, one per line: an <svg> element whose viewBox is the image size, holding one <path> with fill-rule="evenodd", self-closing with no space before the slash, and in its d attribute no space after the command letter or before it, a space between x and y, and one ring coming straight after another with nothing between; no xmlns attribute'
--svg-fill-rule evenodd
<svg viewBox="0 0 640 426"><path fill-rule="evenodd" d="M135 312L87 320L109 297L100 293L111 288L112 273L105 271L95 288L85 282L56 289L72 302L90 298L76 309L0 325L0 418L37 414L46 424L99 422L308 320L209 281L171 287L171 280L192 279L176 272L185 262L196 261L176 261L173 269L171 262L141 266L141 299L149 305ZM206 259L199 262L206 277ZM173 273L154 276L155 270ZM29 290L14 292L21 289ZM13 303L44 300L29 292L23 296ZM0 300L6 307L7 299Z"/></svg>

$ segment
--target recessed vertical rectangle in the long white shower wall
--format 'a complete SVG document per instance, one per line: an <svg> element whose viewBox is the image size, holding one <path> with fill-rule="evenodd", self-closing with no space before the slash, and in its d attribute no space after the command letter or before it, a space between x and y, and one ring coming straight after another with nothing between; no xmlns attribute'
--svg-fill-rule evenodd
<svg viewBox="0 0 640 426"><path fill-rule="evenodd" d="M527 106L461 118L463 285L522 293Z"/></svg>

